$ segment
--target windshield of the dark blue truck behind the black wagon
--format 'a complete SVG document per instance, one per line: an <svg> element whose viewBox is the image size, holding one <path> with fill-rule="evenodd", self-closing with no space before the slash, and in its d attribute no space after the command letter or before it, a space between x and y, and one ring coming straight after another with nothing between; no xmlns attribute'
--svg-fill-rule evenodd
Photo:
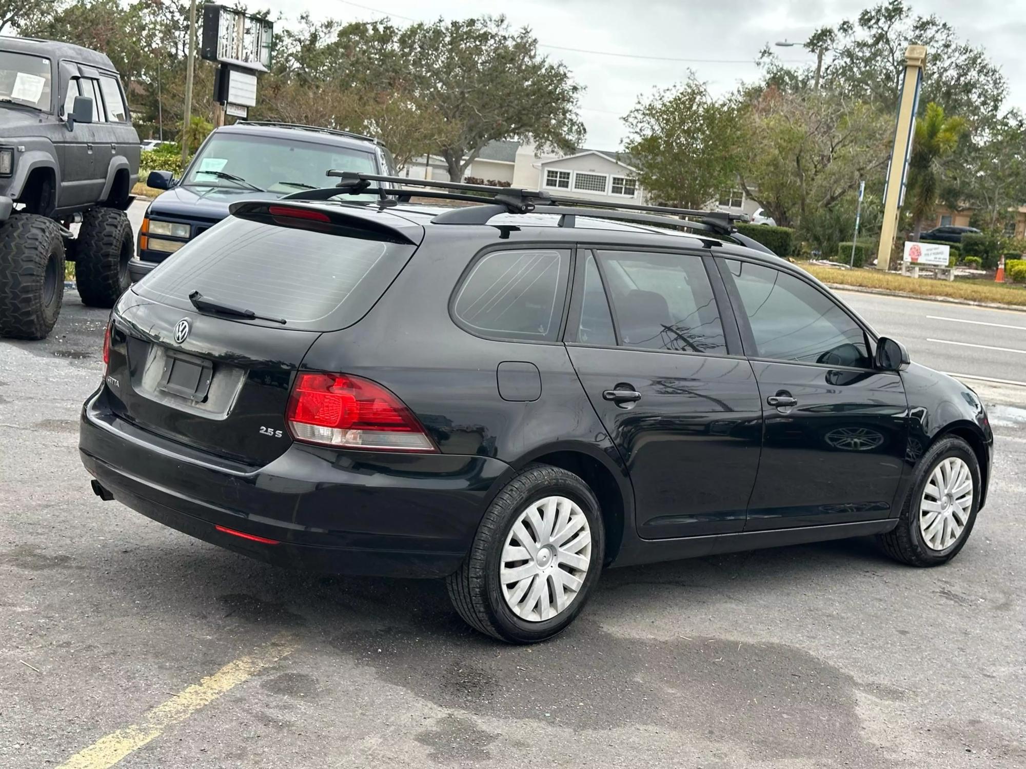
<svg viewBox="0 0 1026 769"><path fill-rule="evenodd" d="M338 179L325 175L332 168L378 173L370 152L226 131L215 133L203 145L182 184L259 188L289 195L305 189L334 187Z"/></svg>

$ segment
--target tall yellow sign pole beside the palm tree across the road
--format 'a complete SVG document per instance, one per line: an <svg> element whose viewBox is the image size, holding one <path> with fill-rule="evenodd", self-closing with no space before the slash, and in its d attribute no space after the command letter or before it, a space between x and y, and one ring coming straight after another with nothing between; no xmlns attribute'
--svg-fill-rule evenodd
<svg viewBox="0 0 1026 769"><path fill-rule="evenodd" d="M905 49L905 75L902 77L898 102L898 125L891 161L887 163L886 187L883 188L883 225L880 228L879 250L876 252L878 270L886 270L891 264L891 250L898 232L898 213L905 202L908 159L912 152L912 127L915 125L915 110L925 66L926 46L910 45Z"/></svg>

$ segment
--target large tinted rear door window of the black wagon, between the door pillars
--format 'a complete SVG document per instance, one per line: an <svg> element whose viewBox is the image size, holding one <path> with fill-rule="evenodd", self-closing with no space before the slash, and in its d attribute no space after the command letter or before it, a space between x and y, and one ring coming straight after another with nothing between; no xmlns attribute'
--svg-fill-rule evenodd
<svg viewBox="0 0 1026 769"><path fill-rule="evenodd" d="M709 276L700 256L600 251L626 347L726 353Z"/></svg>

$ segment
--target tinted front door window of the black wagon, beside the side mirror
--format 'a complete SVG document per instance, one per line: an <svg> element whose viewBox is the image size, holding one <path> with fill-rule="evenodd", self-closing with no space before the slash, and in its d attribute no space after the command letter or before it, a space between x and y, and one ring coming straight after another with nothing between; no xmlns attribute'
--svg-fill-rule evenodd
<svg viewBox="0 0 1026 769"><path fill-rule="evenodd" d="M869 366L866 335L839 305L773 268L727 259L760 358Z"/></svg>

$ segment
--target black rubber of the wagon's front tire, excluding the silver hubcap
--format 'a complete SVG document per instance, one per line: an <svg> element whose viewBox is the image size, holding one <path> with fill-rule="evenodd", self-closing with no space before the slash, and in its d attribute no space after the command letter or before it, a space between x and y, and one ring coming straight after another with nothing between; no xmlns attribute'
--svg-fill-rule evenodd
<svg viewBox="0 0 1026 769"><path fill-rule="evenodd" d="M922 498L922 490L929 482L934 468L942 459L949 456L957 456L969 466L970 475L973 478L973 510L958 539L946 550L936 551L926 547L919 530L919 502ZM955 436L942 438L930 447L930 450L922 455L916 464L915 477L902 504L898 525L884 534L878 534L877 541L889 556L909 566L940 566L947 563L958 555L958 552L969 541L969 535L973 532L973 526L976 524L976 517L980 509L982 490L980 462L973 449L961 438Z"/></svg>

